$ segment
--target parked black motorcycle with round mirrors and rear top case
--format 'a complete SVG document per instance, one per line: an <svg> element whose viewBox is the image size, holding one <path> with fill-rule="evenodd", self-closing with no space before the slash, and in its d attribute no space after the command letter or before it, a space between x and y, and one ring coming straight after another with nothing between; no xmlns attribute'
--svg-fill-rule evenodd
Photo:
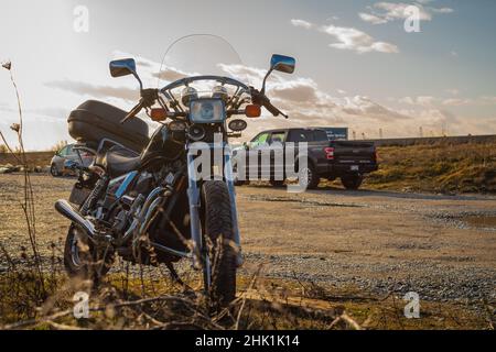
<svg viewBox="0 0 496 352"><path fill-rule="evenodd" d="M79 177L69 201L55 204L72 222L64 250L67 273L99 282L118 255L140 265L165 264L181 282L174 263L188 258L203 274L203 289L212 299L222 305L234 300L242 255L228 140L239 136L247 123L233 118L258 118L261 107L288 118L270 102L265 87L274 70L292 74L294 67L294 58L273 55L260 90L218 75L182 77L144 89L134 59L112 61L111 76L134 76L141 99L128 113L93 101L77 110L79 120L69 119L78 148L96 157L89 167L66 165ZM214 87L205 90L207 85ZM142 110L160 127L138 154L138 135L125 127L134 123L141 138L137 114ZM98 113L107 129L95 122ZM128 133L134 147L106 133Z"/></svg>

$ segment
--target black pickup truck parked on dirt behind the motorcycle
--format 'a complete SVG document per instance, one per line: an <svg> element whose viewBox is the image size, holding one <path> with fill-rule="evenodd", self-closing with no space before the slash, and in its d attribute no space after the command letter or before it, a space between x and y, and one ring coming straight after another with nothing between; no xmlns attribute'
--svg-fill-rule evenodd
<svg viewBox="0 0 496 352"><path fill-rule="evenodd" d="M295 160L287 161L284 156L277 158L276 153L270 147L271 145L282 144L282 150L285 150L287 143L292 142L295 145ZM279 165L279 169L285 170L287 163L295 165L300 153L299 143L308 143L308 169L306 183L308 188L313 189L319 186L321 178L334 180L341 178L343 186L346 189L358 189L364 180L364 175L378 169L377 153L374 143L359 141L330 141L327 133L321 129L282 129L271 130L259 133L249 143L245 143L241 148L234 150L234 167L237 170L240 155L245 155L245 165L249 165L249 160L255 157L258 161L259 173L254 177L254 173L248 170L246 166L244 175L245 179L237 179L237 185L242 185L246 182L254 179L268 179L274 186L281 186L284 180L280 176L276 177L274 165L280 164L283 160L284 165ZM261 155L263 148L269 150L270 167L267 164L267 158ZM239 153L245 150L245 153ZM281 154L285 154L280 152ZM278 166L278 165L276 165ZM281 167L282 166L282 167ZM290 165L291 167L291 165ZM266 172L262 172L266 169ZM298 167L295 167L298 169ZM270 175L265 178L263 175ZM283 178L287 175L284 172Z"/></svg>

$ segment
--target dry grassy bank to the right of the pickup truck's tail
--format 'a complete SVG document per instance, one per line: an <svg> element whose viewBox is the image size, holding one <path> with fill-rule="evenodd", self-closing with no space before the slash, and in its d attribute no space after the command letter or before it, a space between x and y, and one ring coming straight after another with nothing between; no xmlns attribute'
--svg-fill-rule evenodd
<svg viewBox="0 0 496 352"><path fill-rule="evenodd" d="M365 187L432 193L496 193L496 143L379 148Z"/></svg>

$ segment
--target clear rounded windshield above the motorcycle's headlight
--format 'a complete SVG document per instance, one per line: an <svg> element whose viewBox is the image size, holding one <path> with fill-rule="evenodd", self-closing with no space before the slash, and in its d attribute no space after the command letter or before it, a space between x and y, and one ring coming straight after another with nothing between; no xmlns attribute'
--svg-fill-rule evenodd
<svg viewBox="0 0 496 352"><path fill-rule="evenodd" d="M165 51L159 73L159 88L185 77L220 76L244 82L245 65L236 48L213 34L192 34L173 42ZM207 81L195 82L209 91Z"/></svg>

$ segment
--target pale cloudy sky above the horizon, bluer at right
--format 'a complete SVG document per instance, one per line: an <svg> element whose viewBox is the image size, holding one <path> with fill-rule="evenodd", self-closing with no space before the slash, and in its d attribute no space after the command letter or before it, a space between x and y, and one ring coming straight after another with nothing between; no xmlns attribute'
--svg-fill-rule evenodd
<svg viewBox="0 0 496 352"><path fill-rule="evenodd" d="M409 6L420 32L406 31ZM109 61L136 57L144 85L157 87L168 46L193 33L222 36L236 55L198 46L169 73L195 73L211 54L239 55L225 73L259 86L273 53L298 61L294 75L268 84L290 120L266 113L249 121L245 139L302 125L348 127L357 139L496 133L493 0L17 0L0 11L0 62L12 62L29 150L71 141L68 113L85 100L134 105L137 82L111 78ZM13 145L18 119L0 69L0 131Z"/></svg>

